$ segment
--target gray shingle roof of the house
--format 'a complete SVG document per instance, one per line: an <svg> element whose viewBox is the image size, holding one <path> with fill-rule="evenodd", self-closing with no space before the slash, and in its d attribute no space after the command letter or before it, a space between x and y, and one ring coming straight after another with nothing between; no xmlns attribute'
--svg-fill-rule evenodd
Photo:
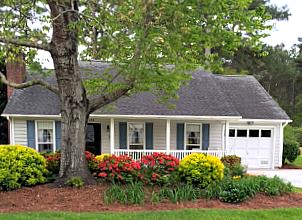
<svg viewBox="0 0 302 220"><path fill-rule="evenodd" d="M82 72L102 72L108 64L80 63ZM94 114L118 115L188 115L242 116L248 119L289 120L287 114L252 76L220 76L197 70L192 80L179 92L176 108L156 102L151 93L120 98L114 108L99 109ZM16 90L3 114L58 115L59 98L40 86Z"/></svg>

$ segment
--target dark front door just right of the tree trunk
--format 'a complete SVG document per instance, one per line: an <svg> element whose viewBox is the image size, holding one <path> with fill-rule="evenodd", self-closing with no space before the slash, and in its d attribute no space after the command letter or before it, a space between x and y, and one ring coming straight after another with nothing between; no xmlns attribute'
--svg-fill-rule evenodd
<svg viewBox="0 0 302 220"><path fill-rule="evenodd" d="M101 124L88 123L86 129L86 150L95 154L101 154Z"/></svg>

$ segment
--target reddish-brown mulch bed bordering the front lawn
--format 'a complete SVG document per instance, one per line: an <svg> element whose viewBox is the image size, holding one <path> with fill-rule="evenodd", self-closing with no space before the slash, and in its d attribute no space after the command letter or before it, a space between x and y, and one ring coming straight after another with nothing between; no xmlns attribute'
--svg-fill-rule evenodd
<svg viewBox="0 0 302 220"><path fill-rule="evenodd" d="M302 207L302 193L279 197L257 195L240 204L227 204L218 200L200 199L194 202L174 204L161 202L144 205L105 204L103 192L105 185L77 188L55 188L45 184L15 191L0 192L0 213L29 211L73 211L73 212L116 212L174 210L181 208L218 208L218 209L270 209Z"/></svg>

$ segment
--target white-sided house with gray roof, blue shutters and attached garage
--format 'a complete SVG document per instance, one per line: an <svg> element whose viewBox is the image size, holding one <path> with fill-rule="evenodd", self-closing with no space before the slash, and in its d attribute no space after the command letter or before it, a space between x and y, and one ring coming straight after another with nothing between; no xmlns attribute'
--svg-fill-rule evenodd
<svg viewBox="0 0 302 220"><path fill-rule="evenodd" d="M24 69L14 66L8 78ZM110 64L80 62L81 71L102 72ZM19 80L19 81L18 81ZM236 154L249 168L282 165L283 129L291 122L253 76L222 76L197 70L183 86L176 107L158 104L150 93L119 99L114 108L95 111L89 118L87 150L95 154L128 154L134 159L165 152L179 159L192 152L218 157ZM37 151L61 145L58 97L40 86L9 94L2 114L10 122L11 144Z"/></svg>

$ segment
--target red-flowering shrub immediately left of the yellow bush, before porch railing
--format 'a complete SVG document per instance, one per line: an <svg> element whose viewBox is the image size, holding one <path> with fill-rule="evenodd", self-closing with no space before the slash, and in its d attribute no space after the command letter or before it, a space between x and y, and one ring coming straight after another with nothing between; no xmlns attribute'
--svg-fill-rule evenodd
<svg viewBox="0 0 302 220"><path fill-rule="evenodd" d="M176 157L163 153L143 156L139 161L141 170L139 177L147 184L168 184L179 165Z"/></svg>

